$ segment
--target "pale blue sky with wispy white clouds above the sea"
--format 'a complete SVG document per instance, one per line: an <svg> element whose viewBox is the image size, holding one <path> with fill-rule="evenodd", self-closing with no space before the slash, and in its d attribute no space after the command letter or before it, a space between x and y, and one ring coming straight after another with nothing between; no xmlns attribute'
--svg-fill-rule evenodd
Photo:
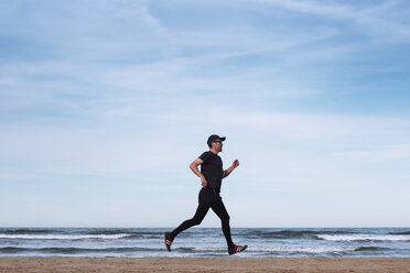
<svg viewBox="0 0 410 273"><path fill-rule="evenodd" d="M0 0L0 227L410 227L407 0ZM219 227L209 212L202 227Z"/></svg>

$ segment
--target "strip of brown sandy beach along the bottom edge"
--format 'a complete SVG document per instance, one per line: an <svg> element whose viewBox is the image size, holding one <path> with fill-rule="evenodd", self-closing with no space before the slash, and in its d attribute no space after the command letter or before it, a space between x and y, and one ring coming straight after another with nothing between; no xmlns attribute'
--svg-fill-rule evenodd
<svg viewBox="0 0 410 273"><path fill-rule="evenodd" d="M0 272L410 272L410 258L0 258Z"/></svg>

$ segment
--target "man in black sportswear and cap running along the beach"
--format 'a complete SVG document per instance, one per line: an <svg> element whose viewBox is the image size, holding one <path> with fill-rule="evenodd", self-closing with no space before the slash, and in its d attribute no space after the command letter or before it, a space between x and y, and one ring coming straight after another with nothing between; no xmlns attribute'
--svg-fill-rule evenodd
<svg viewBox="0 0 410 273"><path fill-rule="evenodd" d="M223 150L223 141L226 138L220 138L217 134L212 134L208 138L207 144L209 151L204 152L198 159L194 160L190 168L201 178L202 189L198 196L198 207L192 219L188 219L181 223L172 232L164 233L165 247L168 251L171 251L171 244L174 238L193 226L199 225L205 218L209 208L219 217L222 221L222 229L228 244L229 255L244 251L248 245L237 245L233 242L230 238L230 227L229 227L229 215L226 211L220 193L222 179L228 176L237 166L239 166L239 161L235 160L233 165L225 170L223 168L223 162L218 155ZM201 172L198 170L201 165Z"/></svg>

